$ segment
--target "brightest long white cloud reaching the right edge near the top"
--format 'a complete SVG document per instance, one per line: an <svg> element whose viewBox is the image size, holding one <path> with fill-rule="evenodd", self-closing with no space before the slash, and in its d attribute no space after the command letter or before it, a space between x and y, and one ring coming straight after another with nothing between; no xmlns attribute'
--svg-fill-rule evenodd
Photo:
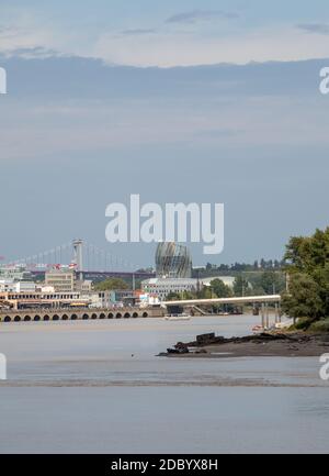
<svg viewBox="0 0 329 476"><path fill-rule="evenodd" d="M309 35L295 27L258 30L226 37L160 33L147 37L102 35L93 55L135 66L194 66L201 64L297 60L327 57L329 36Z"/></svg>

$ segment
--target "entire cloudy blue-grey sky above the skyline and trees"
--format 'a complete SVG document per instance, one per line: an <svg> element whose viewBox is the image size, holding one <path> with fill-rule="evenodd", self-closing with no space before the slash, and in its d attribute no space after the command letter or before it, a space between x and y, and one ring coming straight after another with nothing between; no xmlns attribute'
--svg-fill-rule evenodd
<svg viewBox="0 0 329 476"><path fill-rule="evenodd" d="M225 250L194 263L281 258L328 225L325 1L1 1L0 255L81 236L105 208L224 202Z"/></svg>

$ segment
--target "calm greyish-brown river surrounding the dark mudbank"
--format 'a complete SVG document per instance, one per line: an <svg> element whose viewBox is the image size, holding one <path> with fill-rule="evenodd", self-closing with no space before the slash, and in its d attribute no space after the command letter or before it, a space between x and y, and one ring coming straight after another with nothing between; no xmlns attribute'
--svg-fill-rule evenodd
<svg viewBox="0 0 329 476"><path fill-rule="evenodd" d="M319 359L156 357L259 318L8 323L0 453L327 453Z"/></svg>

